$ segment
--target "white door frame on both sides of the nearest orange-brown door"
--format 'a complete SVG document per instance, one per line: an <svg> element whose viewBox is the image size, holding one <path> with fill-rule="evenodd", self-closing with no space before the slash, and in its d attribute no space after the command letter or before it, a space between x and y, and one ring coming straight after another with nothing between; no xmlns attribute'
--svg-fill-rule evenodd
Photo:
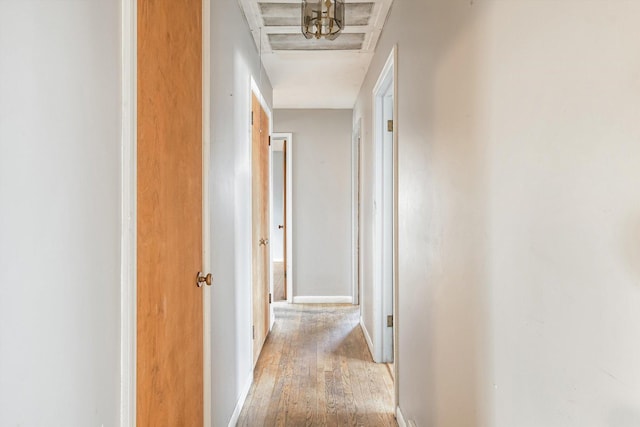
<svg viewBox="0 0 640 427"><path fill-rule="evenodd" d="M136 425L137 357L137 0L121 6L120 426ZM210 271L211 0L202 0L202 268ZM203 411L211 426L211 290L203 289Z"/></svg>

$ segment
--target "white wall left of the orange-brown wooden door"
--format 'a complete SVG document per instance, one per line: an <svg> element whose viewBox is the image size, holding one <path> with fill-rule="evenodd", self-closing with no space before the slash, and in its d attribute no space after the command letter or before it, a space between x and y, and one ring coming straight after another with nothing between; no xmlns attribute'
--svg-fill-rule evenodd
<svg viewBox="0 0 640 427"><path fill-rule="evenodd" d="M0 2L0 425L115 426L120 5Z"/></svg>

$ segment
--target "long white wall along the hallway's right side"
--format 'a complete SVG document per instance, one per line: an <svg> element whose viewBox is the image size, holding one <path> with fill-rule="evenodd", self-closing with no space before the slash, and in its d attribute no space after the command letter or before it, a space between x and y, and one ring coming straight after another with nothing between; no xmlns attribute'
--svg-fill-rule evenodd
<svg viewBox="0 0 640 427"><path fill-rule="evenodd" d="M639 15L395 2L354 120L371 178L371 89L397 43L407 420L640 425Z"/></svg>

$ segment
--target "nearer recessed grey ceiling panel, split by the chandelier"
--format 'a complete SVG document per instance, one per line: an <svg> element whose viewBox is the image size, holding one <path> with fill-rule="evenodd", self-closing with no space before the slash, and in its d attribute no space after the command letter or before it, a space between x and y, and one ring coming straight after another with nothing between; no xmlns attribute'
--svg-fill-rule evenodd
<svg viewBox="0 0 640 427"><path fill-rule="evenodd" d="M300 25L299 3L258 3L264 25L267 27L294 27ZM345 25L368 25L373 3L346 3Z"/></svg>

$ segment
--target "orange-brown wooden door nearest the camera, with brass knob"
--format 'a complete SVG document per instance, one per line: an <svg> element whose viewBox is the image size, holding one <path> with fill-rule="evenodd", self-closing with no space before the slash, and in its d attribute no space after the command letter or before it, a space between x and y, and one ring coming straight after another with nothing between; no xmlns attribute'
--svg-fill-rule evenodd
<svg viewBox="0 0 640 427"><path fill-rule="evenodd" d="M137 5L137 425L202 426L202 6Z"/></svg>

